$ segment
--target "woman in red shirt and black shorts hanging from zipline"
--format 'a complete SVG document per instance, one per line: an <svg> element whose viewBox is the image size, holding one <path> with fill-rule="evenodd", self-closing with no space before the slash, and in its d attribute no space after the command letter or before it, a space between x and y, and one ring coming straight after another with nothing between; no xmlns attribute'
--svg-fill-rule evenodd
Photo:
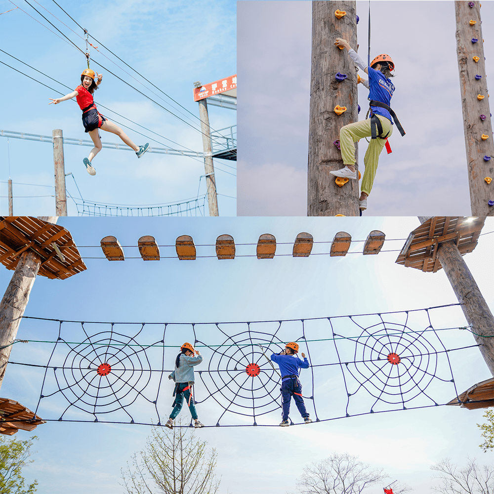
<svg viewBox="0 0 494 494"><path fill-rule="evenodd" d="M97 80L96 77L98 78ZM149 142L144 144L144 146L136 146L118 125L110 122L98 112L94 104L93 93L98 89L102 79L102 74L94 73L91 69L85 69L81 74L81 85L77 86L74 92L61 98L48 98L51 99L51 103L56 105L61 101L67 101L76 97L77 103L82 110L82 124L84 125L85 132L91 136L94 143L94 148L91 149L89 156L82 160L89 175L96 175L96 170L91 165L91 161L102 149L99 128L117 134L127 146L135 151L137 158L140 158L149 148ZM51 103L48 104L51 105Z"/></svg>

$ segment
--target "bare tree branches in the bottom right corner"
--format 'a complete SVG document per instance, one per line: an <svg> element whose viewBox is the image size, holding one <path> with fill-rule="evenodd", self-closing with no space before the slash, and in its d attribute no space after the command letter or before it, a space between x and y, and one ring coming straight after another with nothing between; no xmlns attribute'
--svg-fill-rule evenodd
<svg viewBox="0 0 494 494"><path fill-rule="evenodd" d="M442 459L431 466L438 472L434 479L441 480L441 485L432 486L432 490L442 494L493 494L494 466L479 467L475 459L468 458L467 465L458 468L449 458Z"/></svg>

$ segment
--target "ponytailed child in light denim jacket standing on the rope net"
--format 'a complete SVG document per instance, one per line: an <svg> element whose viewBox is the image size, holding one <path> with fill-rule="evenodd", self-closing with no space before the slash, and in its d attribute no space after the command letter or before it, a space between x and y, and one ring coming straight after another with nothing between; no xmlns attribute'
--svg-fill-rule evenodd
<svg viewBox="0 0 494 494"><path fill-rule="evenodd" d="M197 357L194 357L194 352ZM194 427L196 429L204 427L198 418L196 412L196 406L194 405L194 397L192 396L192 386L194 385L194 366L197 366L203 361L203 357L199 353L199 350L194 350L194 347L185 342L180 347L180 353L175 359L175 369L168 376L168 379L175 381L175 389L173 390L173 396L175 401L173 402L173 410L170 414L170 418L165 423L165 426L169 429L173 429L173 419L178 415L182 409L183 399L187 401L190 414L194 419Z"/></svg>

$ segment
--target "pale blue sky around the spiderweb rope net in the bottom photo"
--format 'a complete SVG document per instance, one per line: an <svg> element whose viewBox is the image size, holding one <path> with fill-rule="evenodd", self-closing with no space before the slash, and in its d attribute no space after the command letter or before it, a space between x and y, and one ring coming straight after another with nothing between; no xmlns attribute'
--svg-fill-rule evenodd
<svg viewBox="0 0 494 494"><path fill-rule="evenodd" d="M71 232L87 270L65 281L38 277L26 316L136 323L278 321L404 311L457 302L443 271L422 273L395 264L397 250L419 225L416 217L60 218L59 224ZM352 244L351 252L345 257L328 255L329 242L338 231L350 233L354 241L363 241L375 229L383 231L389 239L378 255L352 253L362 249L361 242ZM493 231L494 223L487 218L483 229L486 235L480 237L474 252L465 256L491 307L494 303L490 289L492 280L486 262L491 257L494 237L489 232ZM314 255L309 258L291 256L291 244L300 232L312 234L317 242ZM279 243L277 253L288 255L258 260L255 244L264 233L276 237ZM232 235L235 239L238 257L234 260L214 257L215 240L223 234ZM129 246L124 247L125 261L109 262L103 257L98 246L100 240L108 235L116 236L122 246ZM139 257L136 245L142 235L154 236L163 246L160 247L161 255L170 258L160 261L132 259ZM195 261L177 259L174 243L180 235L190 235L194 239L198 256L210 257ZM2 269L1 287L4 290L11 273ZM466 325L458 307L436 310L431 317L436 328ZM145 327L142 341L154 341L154 330L148 328ZM191 337L190 326L171 325L170 328L168 341L181 343L182 339ZM293 329L298 337L299 329L294 325L288 328ZM307 328L313 330L309 324ZM238 332L240 330L244 329ZM271 327L265 330L269 331ZM17 337L53 341L57 331L56 323L25 319ZM69 335L76 336L78 331L74 329ZM322 326L322 334L325 331L330 334L328 326ZM467 331L442 331L441 337L447 348L475 344ZM217 335L206 330L201 339L210 344ZM314 364L333 358L328 343L321 345L310 343ZM46 363L51 349L52 345L47 343L16 343L10 360ZM171 368L175 352L175 348L165 352L165 368ZM207 348L202 349L202 353L205 362L197 368L198 371L207 370L212 356ZM477 348L451 352L450 359L458 392L490 377ZM314 374L314 396L320 418L335 416L346 393L338 374L326 369L316 369ZM443 375L445 372L447 369L441 364L438 373ZM302 385L307 391L312 385L310 375L309 371L301 372ZM34 410L41 381L42 372L39 370L12 364L3 381L2 396L16 399ZM454 397L451 383L434 387L434 390L441 403ZM166 380L161 393L165 411L167 399L171 405L171 392L171 384ZM197 382L198 401L206 395L205 386ZM145 414L141 405L136 403L135 413ZM356 405L359 406L360 402ZM43 412L57 418L60 406L56 399L46 402ZM308 403L314 416L311 407ZM198 405L199 417L206 425L216 423L217 411L218 407L210 400ZM475 425L483 421L482 413L456 407L433 407L288 428L210 427L198 431L198 434L218 452L216 471L222 475L222 493L293 491L296 478L309 460L345 451L359 455L372 466L384 468L393 477L390 481L398 478L416 492L423 492L431 484L430 465L445 456L459 463L464 462L467 455L478 458L480 462L488 461L489 455L478 448L481 438ZM187 417L188 412L184 410L182 415ZM298 421L296 410L292 410L290 416ZM262 423L276 425L279 418L279 412L271 412L263 416ZM246 423L240 415L229 420ZM36 445L38 453L25 474L28 479L40 481L40 494L62 493L67 489L75 494L120 494L123 492L119 486L120 469L125 467L125 462L134 452L143 448L148 433L149 427L144 425L48 422L36 429L40 437ZM19 432L17 436L23 438L28 434ZM378 486L370 493L380 492L380 489Z"/></svg>

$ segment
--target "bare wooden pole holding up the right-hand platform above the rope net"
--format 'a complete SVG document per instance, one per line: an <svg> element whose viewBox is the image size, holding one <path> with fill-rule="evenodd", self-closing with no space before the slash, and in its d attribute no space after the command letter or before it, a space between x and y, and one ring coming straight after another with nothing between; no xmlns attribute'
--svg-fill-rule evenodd
<svg viewBox="0 0 494 494"><path fill-rule="evenodd" d="M432 216L419 216L425 223ZM439 244L437 258L450 280L475 341L494 376L494 317L454 241Z"/></svg>

